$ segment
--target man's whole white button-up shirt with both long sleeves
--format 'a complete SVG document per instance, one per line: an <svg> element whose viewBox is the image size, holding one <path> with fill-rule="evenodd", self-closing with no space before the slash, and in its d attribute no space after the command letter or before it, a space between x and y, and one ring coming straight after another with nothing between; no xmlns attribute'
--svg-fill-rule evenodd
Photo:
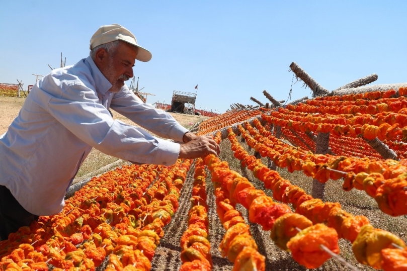
<svg viewBox="0 0 407 271"><path fill-rule="evenodd" d="M0 136L0 185L35 215L53 215L92 147L148 164L176 162L180 145L112 119L111 108L159 137L182 142L188 132L170 114L110 82L91 57L39 80L8 131Z"/></svg>

